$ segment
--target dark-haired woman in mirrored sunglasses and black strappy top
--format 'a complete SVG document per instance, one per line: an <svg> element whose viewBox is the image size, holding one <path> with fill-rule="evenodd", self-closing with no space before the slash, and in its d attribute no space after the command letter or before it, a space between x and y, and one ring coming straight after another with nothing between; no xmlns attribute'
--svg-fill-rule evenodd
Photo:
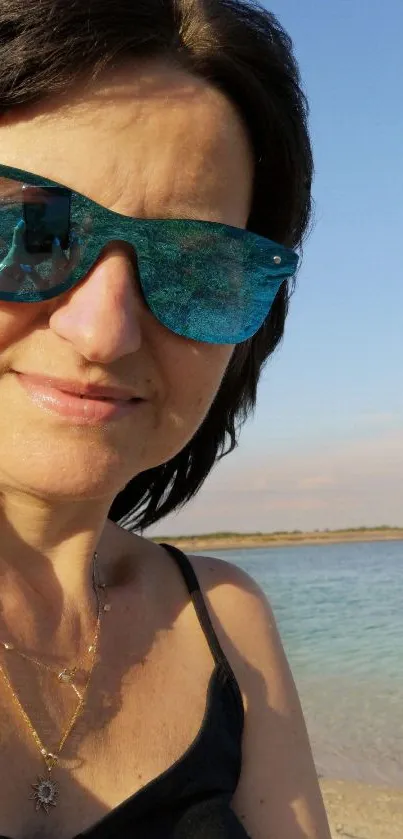
<svg viewBox="0 0 403 839"><path fill-rule="evenodd" d="M133 532L283 334L289 39L238 0L2 0L0 33L0 834L328 839L263 593Z"/></svg>

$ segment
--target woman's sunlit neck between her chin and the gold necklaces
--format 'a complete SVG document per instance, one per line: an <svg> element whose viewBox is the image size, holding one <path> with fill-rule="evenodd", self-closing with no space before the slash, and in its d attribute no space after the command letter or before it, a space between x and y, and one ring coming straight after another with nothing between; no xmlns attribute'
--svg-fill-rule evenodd
<svg viewBox="0 0 403 839"><path fill-rule="evenodd" d="M56 517L55 517L56 518ZM113 564L114 525L100 517L84 526L68 516L8 505L0 513L0 640L32 654L79 656L96 625L94 552L99 579ZM112 554L110 551L112 550ZM6 636L6 637L4 637Z"/></svg>

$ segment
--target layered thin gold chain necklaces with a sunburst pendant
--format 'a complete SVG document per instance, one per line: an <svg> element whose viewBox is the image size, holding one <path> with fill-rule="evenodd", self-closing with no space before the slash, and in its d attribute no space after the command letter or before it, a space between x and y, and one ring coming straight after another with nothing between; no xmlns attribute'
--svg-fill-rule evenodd
<svg viewBox="0 0 403 839"><path fill-rule="evenodd" d="M39 665L40 667L43 667L44 669L49 670L51 673L54 673L55 675L57 675L58 680L62 684L66 684L66 685L69 685L70 687L72 687L74 689L75 693L77 694L77 696L79 697L79 702L78 702L77 708L74 711L74 714L73 714L73 716L72 716L72 718L71 718L71 720L70 720L70 722L69 722L69 724L66 728L66 731L64 732L64 734L63 734L63 736L60 740L59 745L57 746L57 748L55 749L54 752L50 752L50 751L48 751L48 749L45 748L45 746L43 745L37 731L35 731L32 723L31 723L31 720L28 717L28 714L24 710L23 706L21 705L20 700L18 699L18 696L16 695L16 693L14 692L14 690L12 688L12 685L10 683L10 680L9 680L8 676L7 676L6 671L4 670L2 665L0 664L0 671L3 674L4 680L5 680L8 688L9 688L9 690L11 691L13 699L16 702L22 716L24 717L24 720L25 720L25 722L26 722L34 740L35 740L36 745L38 746L38 748L40 750L40 753L41 753L41 755L42 755L42 757L45 761L46 768L47 768L47 775L45 777L37 777L37 783L36 784L31 784L34 792L29 797L36 801L36 807L35 807L36 811L43 808L46 813L49 813L49 807L56 807L56 799L59 795L59 785L56 783L56 781L52 780L52 777L51 777L52 769L59 762L60 752L61 752L69 734L71 733L71 731L72 731L80 713L82 712L82 710L84 708L85 699L86 699L86 695L87 695L87 692L88 692L88 687L89 687L89 684L90 684L90 681L91 681L92 671L94 669L94 664L95 664L95 660L96 660L98 640L99 640L100 627L101 627L101 613L102 613L102 611L109 612L110 609L111 609L110 604L105 602L105 599L106 599L106 585L105 585L105 583L100 583L99 582L97 560L98 560L98 554L94 553L93 568L92 568L92 585L93 585L93 588L94 588L94 591L95 591L95 594L96 594L96 597L97 597L98 616L97 616L97 624L96 624L94 639L93 639L92 644L88 647L88 652L92 654L91 655L91 667L90 667L88 678L87 678L87 681L86 681L86 684L85 684L85 687L84 687L84 690L83 690L82 694L80 694L80 692L77 690L76 685L73 683L73 679L75 678L76 673L77 673L77 667L73 667L73 668L70 668L70 669L65 668L64 670L59 671L59 668L55 669L54 667L51 667L47 664L43 664L43 662L38 661L38 659L36 659L36 658L28 656L26 653L20 652L19 650L17 650L15 648L14 644L11 644L9 641L1 641L0 642L5 650L7 650L9 652L15 652L17 655L21 656L22 658L25 658L28 661L32 661L35 664ZM100 601L98 589L101 589L103 594L104 594L103 603L101 603L101 601Z"/></svg>

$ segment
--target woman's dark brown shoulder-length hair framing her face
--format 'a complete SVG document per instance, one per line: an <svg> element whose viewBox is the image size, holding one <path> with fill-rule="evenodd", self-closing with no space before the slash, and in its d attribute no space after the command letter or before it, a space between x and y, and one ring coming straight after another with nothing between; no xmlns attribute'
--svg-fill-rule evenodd
<svg viewBox="0 0 403 839"><path fill-rule="evenodd" d="M216 85L249 129L255 181L248 228L298 247L311 211L307 103L292 43L253 0L0 0L0 112L65 92L128 58L166 58ZM109 517L143 530L183 506L233 451L278 346L292 288L281 287L257 335L236 347L193 439L133 478Z"/></svg>

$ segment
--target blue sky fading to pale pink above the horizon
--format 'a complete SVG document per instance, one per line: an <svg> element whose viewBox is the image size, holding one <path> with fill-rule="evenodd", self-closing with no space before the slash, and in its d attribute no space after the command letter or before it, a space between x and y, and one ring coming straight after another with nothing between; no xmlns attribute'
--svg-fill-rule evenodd
<svg viewBox="0 0 403 839"><path fill-rule="evenodd" d="M237 450L148 535L403 526L403 3L265 5L310 103L314 225Z"/></svg>

